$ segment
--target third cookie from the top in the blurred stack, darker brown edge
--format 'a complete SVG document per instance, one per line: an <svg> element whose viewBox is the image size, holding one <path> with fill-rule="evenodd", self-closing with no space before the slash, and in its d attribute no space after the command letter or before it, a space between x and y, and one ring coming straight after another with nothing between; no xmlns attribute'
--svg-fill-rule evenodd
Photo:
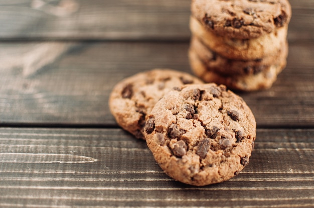
<svg viewBox="0 0 314 208"><path fill-rule="evenodd" d="M268 70L271 65L284 65L288 53L288 44L285 42L274 55L254 60L235 60L212 51L193 35L190 50L194 51L208 69L213 72L225 76L254 75Z"/></svg>

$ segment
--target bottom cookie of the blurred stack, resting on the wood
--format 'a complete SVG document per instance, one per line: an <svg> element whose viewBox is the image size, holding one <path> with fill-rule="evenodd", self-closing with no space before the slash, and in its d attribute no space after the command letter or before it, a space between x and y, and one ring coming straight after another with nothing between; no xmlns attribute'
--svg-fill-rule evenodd
<svg viewBox="0 0 314 208"><path fill-rule="evenodd" d="M282 62L270 65L256 74L222 75L211 70L193 50L189 51L189 59L192 71L205 82L224 84L230 89L241 91L261 90L271 87L277 79L277 75L286 65L284 59Z"/></svg>

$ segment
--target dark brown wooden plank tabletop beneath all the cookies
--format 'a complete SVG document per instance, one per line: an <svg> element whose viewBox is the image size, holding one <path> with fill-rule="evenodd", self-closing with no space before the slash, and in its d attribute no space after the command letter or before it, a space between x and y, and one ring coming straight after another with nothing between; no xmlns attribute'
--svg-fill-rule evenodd
<svg viewBox="0 0 314 208"><path fill-rule="evenodd" d="M196 187L108 109L124 77L191 73L190 0L0 1L0 207L314 207L314 2L290 3L286 68L238 93L257 121L250 164Z"/></svg>

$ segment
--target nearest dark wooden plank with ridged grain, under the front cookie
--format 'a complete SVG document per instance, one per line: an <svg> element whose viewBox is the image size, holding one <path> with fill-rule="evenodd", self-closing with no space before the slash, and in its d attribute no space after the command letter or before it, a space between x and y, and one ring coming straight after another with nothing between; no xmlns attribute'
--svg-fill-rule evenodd
<svg viewBox="0 0 314 208"><path fill-rule="evenodd" d="M250 164L196 187L121 129L0 128L1 207L311 207L314 129L257 129ZM86 159L90 158L90 159Z"/></svg>

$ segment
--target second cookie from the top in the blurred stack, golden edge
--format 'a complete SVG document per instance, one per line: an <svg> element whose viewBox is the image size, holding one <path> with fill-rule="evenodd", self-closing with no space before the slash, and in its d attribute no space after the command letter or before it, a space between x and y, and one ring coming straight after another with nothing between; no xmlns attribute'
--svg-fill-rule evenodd
<svg viewBox="0 0 314 208"><path fill-rule="evenodd" d="M251 39L236 39L220 36L206 28L193 16L190 18L192 33L212 51L229 59L252 60L275 55L286 42L287 26Z"/></svg>

